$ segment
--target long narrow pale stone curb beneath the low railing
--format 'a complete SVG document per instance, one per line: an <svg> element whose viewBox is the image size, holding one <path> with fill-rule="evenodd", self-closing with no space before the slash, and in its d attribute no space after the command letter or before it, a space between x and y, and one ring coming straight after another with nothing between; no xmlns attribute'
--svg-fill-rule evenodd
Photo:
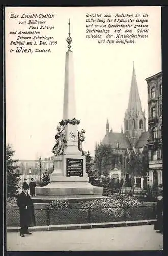
<svg viewBox="0 0 168 256"><path fill-rule="evenodd" d="M88 229L88 228L108 228L108 227L129 227L141 225L153 225L156 220L141 221L118 221L105 223L87 223L87 224L68 224L68 225L51 225L51 226L35 226L30 227L29 231L51 231L51 230L72 230L72 229ZM19 232L20 227L7 227L7 232Z"/></svg>

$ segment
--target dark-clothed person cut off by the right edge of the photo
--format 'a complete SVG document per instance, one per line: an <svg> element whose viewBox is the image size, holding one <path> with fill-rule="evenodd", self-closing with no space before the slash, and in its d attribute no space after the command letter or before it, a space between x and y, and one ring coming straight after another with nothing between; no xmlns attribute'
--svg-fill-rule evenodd
<svg viewBox="0 0 168 256"><path fill-rule="evenodd" d="M161 194L157 197L156 217L154 230L158 230L157 233L163 233L163 197Z"/></svg>

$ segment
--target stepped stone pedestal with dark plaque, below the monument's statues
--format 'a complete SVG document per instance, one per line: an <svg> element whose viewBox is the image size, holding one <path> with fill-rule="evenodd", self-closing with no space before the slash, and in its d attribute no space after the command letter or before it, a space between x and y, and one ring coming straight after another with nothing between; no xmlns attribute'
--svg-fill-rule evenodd
<svg viewBox="0 0 168 256"><path fill-rule="evenodd" d="M76 172L79 176L74 176ZM89 183L84 156L55 156L50 183L45 187L36 187L37 198L41 200L100 198L102 194L103 187Z"/></svg>

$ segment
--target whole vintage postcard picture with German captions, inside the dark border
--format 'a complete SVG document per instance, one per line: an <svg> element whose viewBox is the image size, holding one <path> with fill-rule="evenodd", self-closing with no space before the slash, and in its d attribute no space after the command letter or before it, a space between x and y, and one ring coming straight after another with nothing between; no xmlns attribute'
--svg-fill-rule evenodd
<svg viewBox="0 0 168 256"><path fill-rule="evenodd" d="M7 251L162 250L161 7L4 26Z"/></svg>

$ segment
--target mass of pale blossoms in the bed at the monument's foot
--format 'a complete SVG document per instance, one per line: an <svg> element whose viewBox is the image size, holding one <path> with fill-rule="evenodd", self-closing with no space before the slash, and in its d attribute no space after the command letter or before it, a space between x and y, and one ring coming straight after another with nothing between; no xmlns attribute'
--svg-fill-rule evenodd
<svg viewBox="0 0 168 256"><path fill-rule="evenodd" d="M109 198L99 198L88 200L80 203L69 203L64 200L54 200L49 205L50 209L55 209L55 214L52 216L58 219L61 209L71 209L70 211L64 212L63 216L66 218L68 212L73 216L72 212L78 209L78 222L80 222L81 213L83 215L88 214L89 218L92 219L92 222L96 221L114 221L125 220L126 217L129 217L128 211L126 209L135 209L139 206L142 206L142 203L139 202L136 198L130 196L113 196ZM52 218L53 218L52 217ZM76 216L77 217L77 216ZM72 218L71 218L72 219ZM95 221L94 221L95 220Z"/></svg>

